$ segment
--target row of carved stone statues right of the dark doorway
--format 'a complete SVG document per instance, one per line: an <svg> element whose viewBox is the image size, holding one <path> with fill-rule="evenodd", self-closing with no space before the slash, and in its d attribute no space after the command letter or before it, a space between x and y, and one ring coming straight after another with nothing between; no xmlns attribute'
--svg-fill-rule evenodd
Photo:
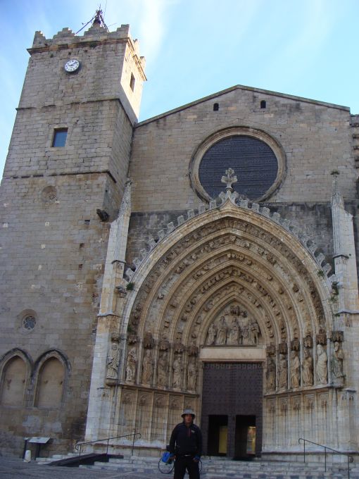
<svg viewBox="0 0 359 479"><path fill-rule="evenodd" d="M315 367L312 349L306 347L303 359L298 351L291 351L290 360L286 354L279 354L278 367L273 356L267 357L267 391L289 389L300 386L327 385L328 367L334 382L344 380L343 372L344 352L340 342L334 342L332 356L328 365L328 355L325 346L317 344ZM289 381L289 384L288 384Z"/></svg>

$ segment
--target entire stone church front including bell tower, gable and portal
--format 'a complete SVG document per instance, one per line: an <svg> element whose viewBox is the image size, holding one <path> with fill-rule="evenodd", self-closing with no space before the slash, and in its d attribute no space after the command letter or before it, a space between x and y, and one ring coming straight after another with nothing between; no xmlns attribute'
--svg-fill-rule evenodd
<svg viewBox="0 0 359 479"><path fill-rule="evenodd" d="M206 454L357 452L359 116L236 86L138 123L128 25L29 53L1 184L3 452L140 433L152 454L189 407Z"/></svg>

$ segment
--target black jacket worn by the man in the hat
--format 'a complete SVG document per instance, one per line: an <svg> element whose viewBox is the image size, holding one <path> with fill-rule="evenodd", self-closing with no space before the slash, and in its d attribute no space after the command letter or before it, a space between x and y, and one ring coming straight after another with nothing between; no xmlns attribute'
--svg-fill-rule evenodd
<svg viewBox="0 0 359 479"><path fill-rule="evenodd" d="M184 422L177 424L171 434L170 453L178 456L183 454L201 456L202 433L198 425L191 423L187 428Z"/></svg>

